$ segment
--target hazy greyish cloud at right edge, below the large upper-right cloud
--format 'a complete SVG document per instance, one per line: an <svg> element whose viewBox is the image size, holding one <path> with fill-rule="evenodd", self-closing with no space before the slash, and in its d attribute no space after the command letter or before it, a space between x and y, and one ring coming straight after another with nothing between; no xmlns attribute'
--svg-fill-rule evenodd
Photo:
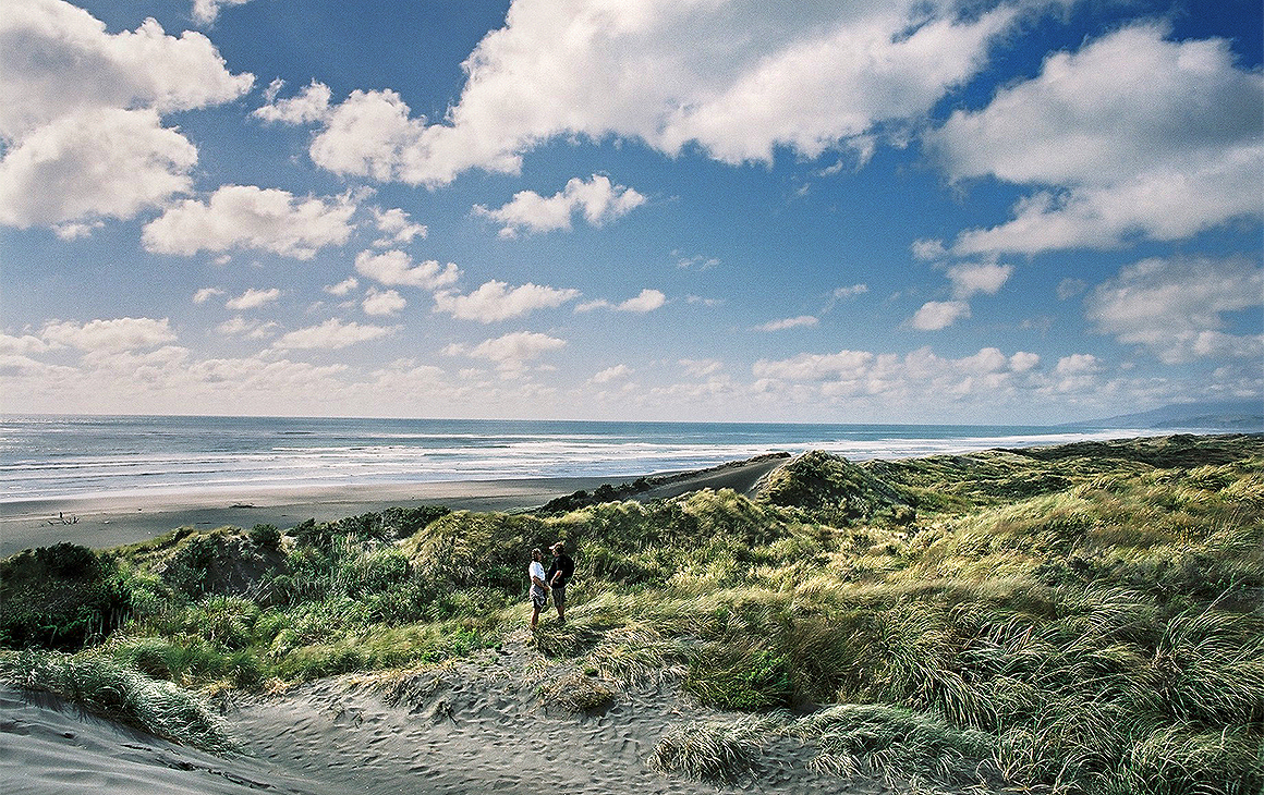
<svg viewBox="0 0 1264 795"><path fill-rule="evenodd" d="M1225 332L1225 315L1264 303L1264 272L1245 259L1145 259L1085 298L1101 334L1141 345L1168 364L1259 355L1259 336Z"/></svg>

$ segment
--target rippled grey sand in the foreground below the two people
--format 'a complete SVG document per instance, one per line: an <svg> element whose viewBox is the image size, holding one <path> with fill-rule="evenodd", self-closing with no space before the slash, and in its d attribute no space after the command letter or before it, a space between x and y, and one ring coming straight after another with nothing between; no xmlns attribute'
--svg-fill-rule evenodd
<svg viewBox="0 0 1264 795"><path fill-rule="evenodd" d="M341 676L224 705L239 755L215 756L80 714L40 694L0 691L0 782L10 795L114 791L387 795L877 795L867 779L818 774L814 748L770 737L755 775L729 784L665 776L646 763L659 738L734 715L694 704L672 683L617 694L605 709L546 705L541 688L581 672L551 665L522 629L499 650L428 671Z"/></svg>

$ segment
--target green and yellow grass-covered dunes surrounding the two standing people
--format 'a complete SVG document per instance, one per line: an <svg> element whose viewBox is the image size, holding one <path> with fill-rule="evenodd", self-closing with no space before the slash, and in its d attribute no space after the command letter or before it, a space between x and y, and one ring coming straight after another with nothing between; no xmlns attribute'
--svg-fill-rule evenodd
<svg viewBox="0 0 1264 795"><path fill-rule="evenodd" d="M205 725L158 725L148 694L191 694L193 725L200 694L506 643L528 552L557 538L578 564L569 621L531 642L583 672L576 698L660 679L748 715L664 737L666 772L724 779L794 737L820 770L925 791L1264 786L1258 435L811 452L753 498L392 508L34 550L0 562L0 667L217 747ZM107 681L134 695L92 701Z"/></svg>

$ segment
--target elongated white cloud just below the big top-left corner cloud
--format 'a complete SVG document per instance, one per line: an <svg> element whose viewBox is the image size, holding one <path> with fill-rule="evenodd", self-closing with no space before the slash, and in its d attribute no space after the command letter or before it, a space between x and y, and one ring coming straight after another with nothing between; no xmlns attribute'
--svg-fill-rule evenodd
<svg viewBox="0 0 1264 795"><path fill-rule="evenodd" d="M259 249L311 259L341 245L354 229L351 196L298 198L288 191L225 185L207 202L187 198L145 225L145 249L192 255L201 250Z"/></svg>

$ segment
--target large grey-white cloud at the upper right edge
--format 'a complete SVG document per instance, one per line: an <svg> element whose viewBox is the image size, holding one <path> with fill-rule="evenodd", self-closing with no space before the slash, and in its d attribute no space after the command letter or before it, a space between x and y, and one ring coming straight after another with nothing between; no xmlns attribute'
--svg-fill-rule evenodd
<svg viewBox="0 0 1264 795"><path fill-rule="evenodd" d="M1259 217L1264 75L1237 68L1225 39L1167 33L1135 24L1050 56L1038 77L928 137L954 179L1043 188L1011 221L962 233L953 253L1115 248Z"/></svg>

